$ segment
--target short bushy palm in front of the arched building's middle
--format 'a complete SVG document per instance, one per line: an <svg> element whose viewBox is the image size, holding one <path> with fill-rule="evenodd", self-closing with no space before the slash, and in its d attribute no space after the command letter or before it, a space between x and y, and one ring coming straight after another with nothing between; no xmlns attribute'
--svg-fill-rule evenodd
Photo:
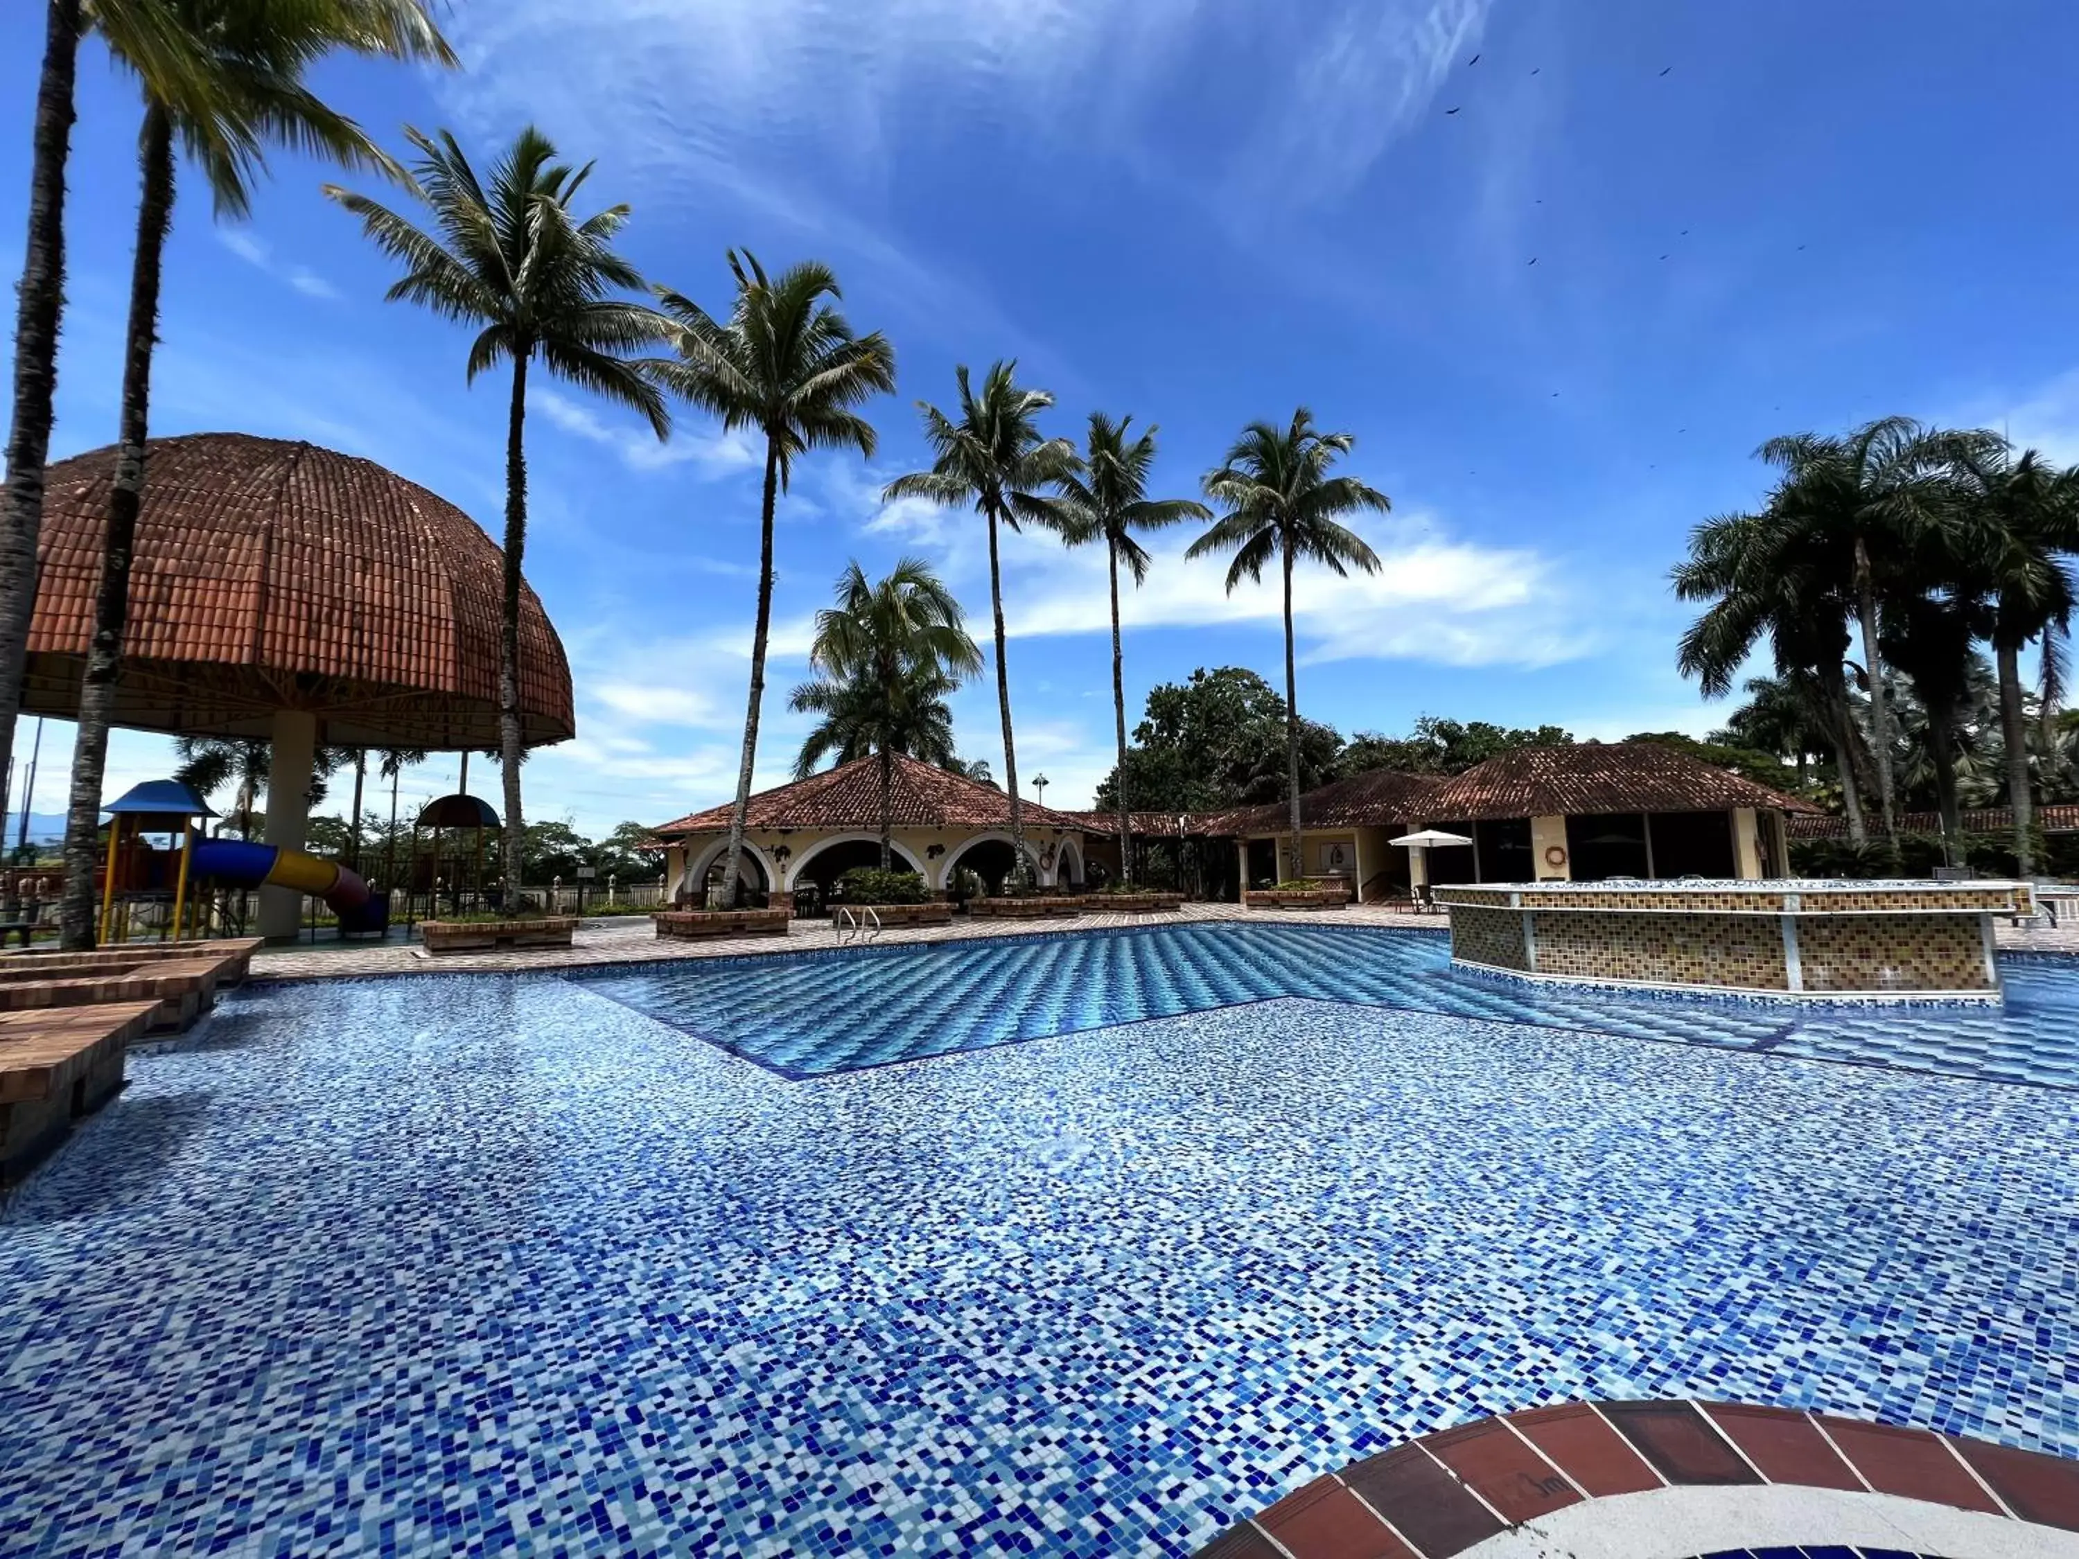
<svg viewBox="0 0 2079 1559"><path fill-rule="evenodd" d="M788 707L821 715L794 759L807 777L836 755L838 763L879 757L881 871L894 865L894 755L923 763L954 763L952 713L946 696L981 669L981 651L967 636L960 603L927 563L902 557L879 584L852 563L838 576L838 603L815 615L809 665L817 682L794 688Z"/></svg>

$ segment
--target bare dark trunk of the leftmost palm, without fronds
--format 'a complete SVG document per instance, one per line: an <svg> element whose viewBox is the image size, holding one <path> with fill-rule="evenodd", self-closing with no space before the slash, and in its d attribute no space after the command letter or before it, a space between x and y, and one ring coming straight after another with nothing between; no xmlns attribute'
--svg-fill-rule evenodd
<svg viewBox="0 0 2079 1559"><path fill-rule="evenodd" d="M35 87L29 243L15 314L15 416L6 441L6 497L0 499L0 773L8 771L15 755L21 667L35 611L35 543L44 528L50 397L58 382L58 318L64 310L64 160L73 146L77 62L79 0L50 0L44 75Z"/></svg>

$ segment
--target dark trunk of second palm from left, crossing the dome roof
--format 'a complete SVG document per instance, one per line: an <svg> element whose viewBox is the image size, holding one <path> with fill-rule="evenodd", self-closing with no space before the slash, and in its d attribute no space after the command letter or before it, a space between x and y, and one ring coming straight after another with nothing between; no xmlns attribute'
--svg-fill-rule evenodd
<svg viewBox="0 0 2079 1559"><path fill-rule="evenodd" d="M100 854L102 775L108 767L108 721L123 673L123 628L129 619L131 551L143 505L143 455L152 426L152 347L158 341L158 283L173 227L173 118L152 104L137 146L143 189L137 200L137 254L131 260L131 310L123 341L123 418L116 476L108 488L102 536L102 582L94 599L94 642L79 684L79 734L73 740L73 794L64 821L64 902L58 946L83 952L96 942L94 858ZM12 713L12 711L10 711Z"/></svg>

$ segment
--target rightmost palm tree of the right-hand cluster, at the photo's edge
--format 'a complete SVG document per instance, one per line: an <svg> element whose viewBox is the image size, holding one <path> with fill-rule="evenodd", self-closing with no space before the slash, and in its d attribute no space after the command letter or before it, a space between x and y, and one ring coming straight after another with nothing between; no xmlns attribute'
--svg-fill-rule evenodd
<svg viewBox="0 0 2079 1559"><path fill-rule="evenodd" d="M2000 736L2006 800L2015 813L2015 858L2023 877L2033 865L2035 800L2029 792L2029 717L2021 688L2021 651L2039 640L2044 701L2054 705L2062 640L2079 584L2060 553L2079 553L2079 466L2058 470L2037 451L1965 451L1956 461L1963 505L1958 551L1992 594L1992 655L2000 678Z"/></svg>

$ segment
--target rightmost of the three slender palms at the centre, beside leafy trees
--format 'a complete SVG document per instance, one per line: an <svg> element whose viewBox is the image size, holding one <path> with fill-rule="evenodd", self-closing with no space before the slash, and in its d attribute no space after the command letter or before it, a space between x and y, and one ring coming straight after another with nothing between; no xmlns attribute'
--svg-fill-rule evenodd
<svg viewBox="0 0 2079 1559"><path fill-rule="evenodd" d="M1252 422L1227 461L1206 476L1206 497L1225 513L1191 543L1185 557L1233 553L1227 592L1241 580L1262 580L1277 559L1285 578L1285 794L1291 804L1293 873L1301 869L1299 844L1299 673L1293 657L1293 565L1306 559L1337 576L1378 572L1378 553L1364 536L1339 524L1362 509L1387 513L1393 501L1356 476L1328 468L1356 447L1356 434L1322 432L1304 405L1291 426Z"/></svg>

